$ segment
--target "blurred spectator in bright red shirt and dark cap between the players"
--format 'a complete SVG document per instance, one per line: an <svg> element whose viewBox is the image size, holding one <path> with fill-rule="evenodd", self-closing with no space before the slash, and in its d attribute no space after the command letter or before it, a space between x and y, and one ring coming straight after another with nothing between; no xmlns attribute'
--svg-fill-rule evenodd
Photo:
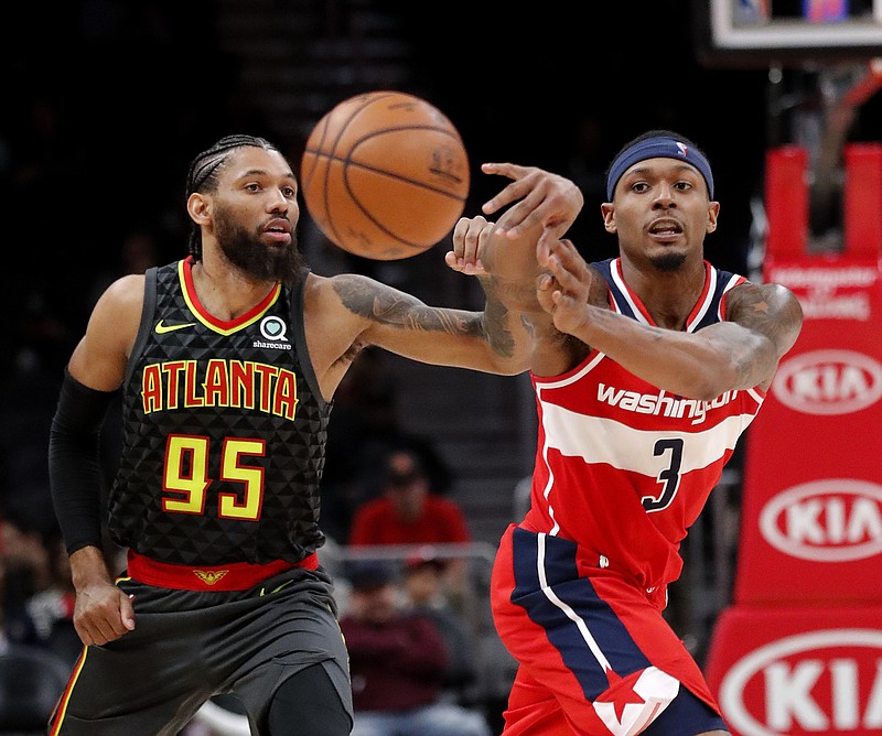
<svg viewBox="0 0 882 736"><path fill-rule="evenodd" d="M392 451L386 458L383 495L365 501L353 519L348 543L467 544L472 541L463 510L450 498L433 494L419 456L408 448ZM467 560L450 561L445 583L461 593Z"/></svg>

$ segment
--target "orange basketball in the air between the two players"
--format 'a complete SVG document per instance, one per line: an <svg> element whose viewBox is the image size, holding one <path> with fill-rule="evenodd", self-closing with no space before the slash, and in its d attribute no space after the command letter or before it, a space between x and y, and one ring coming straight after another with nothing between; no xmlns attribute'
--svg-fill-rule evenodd
<svg viewBox="0 0 882 736"><path fill-rule="evenodd" d="M428 250L453 229L469 194L469 156L453 123L399 91L356 95L310 133L300 164L306 209L356 256L389 261Z"/></svg>

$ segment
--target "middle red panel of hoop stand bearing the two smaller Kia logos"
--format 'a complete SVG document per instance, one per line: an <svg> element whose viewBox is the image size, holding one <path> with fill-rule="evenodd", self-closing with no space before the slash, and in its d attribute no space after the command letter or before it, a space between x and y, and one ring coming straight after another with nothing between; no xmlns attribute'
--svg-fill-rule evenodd
<svg viewBox="0 0 882 736"><path fill-rule="evenodd" d="M788 260L805 323L746 437L734 599L882 602L882 271Z"/></svg>

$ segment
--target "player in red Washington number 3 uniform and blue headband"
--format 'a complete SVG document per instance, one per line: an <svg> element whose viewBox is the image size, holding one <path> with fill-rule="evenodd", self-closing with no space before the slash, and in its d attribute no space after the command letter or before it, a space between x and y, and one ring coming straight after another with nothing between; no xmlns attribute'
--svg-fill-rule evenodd
<svg viewBox="0 0 882 736"><path fill-rule="evenodd" d="M531 323L539 419L530 508L493 572L496 627L519 662L505 736L728 733L662 611L680 542L802 311L784 286L704 259L719 210L704 154L655 130L609 170L602 215L617 258L589 264L545 237L498 263L484 247L504 239L505 218L456 225L451 267L492 266L512 284L542 269L499 292Z"/></svg>

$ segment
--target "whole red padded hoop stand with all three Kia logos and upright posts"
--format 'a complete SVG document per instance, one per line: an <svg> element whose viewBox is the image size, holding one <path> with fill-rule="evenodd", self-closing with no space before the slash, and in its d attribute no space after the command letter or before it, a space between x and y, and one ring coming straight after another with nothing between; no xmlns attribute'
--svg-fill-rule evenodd
<svg viewBox="0 0 882 736"><path fill-rule="evenodd" d="M733 605L706 674L734 736L882 734L882 145L846 147L842 249L808 253L805 151L770 151L764 280L799 339L745 437Z"/></svg>

